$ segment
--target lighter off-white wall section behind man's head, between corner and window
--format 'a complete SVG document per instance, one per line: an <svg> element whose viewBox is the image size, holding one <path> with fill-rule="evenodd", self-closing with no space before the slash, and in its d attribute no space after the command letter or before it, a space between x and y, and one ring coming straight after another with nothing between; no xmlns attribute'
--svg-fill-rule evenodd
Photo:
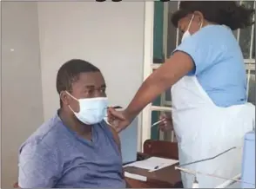
<svg viewBox="0 0 256 189"><path fill-rule="evenodd" d="M56 113L57 69L71 58L100 68L112 105L126 106L143 80L143 2L38 3L44 120Z"/></svg>

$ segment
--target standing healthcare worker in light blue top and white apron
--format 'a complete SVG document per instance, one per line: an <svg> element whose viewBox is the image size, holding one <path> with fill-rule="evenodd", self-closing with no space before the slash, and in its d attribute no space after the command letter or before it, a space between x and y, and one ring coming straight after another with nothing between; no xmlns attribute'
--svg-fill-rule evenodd
<svg viewBox="0 0 256 189"><path fill-rule="evenodd" d="M109 109L109 121L121 131L166 89L172 87L172 123L185 164L242 147L253 129L255 107L246 98L244 58L232 34L253 24L254 10L233 1L182 1L172 23L182 42L138 89L124 111ZM232 178L240 173L241 154L231 150L213 160L185 166L193 171ZM225 182L197 175L199 187ZM193 176L182 173L184 187Z"/></svg>

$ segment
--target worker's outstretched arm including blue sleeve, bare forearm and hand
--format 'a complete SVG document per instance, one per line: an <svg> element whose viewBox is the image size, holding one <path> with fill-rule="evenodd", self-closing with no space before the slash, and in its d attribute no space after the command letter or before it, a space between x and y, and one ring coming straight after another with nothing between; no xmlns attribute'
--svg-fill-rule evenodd
<svg viewBox="0 0 256 189"><path fill-rule="evenodd" d="M142 83L124 111L109 109L109 120L115 121L113 126L118 132L128 127L147 104L154 101L166 89L172 88L180 78L185 75L199 75L212 67L213 63L225 53L224 47L222 43L216 43L214 37L205 36L204 32L198 32L185 39L172 56Z"/></svg>

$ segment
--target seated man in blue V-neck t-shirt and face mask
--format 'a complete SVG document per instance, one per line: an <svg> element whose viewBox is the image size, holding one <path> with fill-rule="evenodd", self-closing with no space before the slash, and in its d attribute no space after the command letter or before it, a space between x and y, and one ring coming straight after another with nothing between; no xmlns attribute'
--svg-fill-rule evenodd
<svg viewBox="0 0 256 189"><path fill-rule="evenodd" d="M104 121L105 88L91 63L64 63L57 73L60 109L20 148L19 187L125 187L118 134Z"/></svg>

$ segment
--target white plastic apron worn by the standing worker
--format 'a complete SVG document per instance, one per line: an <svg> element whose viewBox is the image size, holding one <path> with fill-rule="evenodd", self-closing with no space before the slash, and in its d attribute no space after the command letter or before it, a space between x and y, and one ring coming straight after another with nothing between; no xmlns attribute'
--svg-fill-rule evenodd
<svg viewBox="0 0 256 189"><path fill-rule="evenodd" d="M185 76L173 85L172 105L180 164L211 158L231 147L242 147L244 135L253 130L253 104L219 108L195 76ZM235 149L214 160L184 168L232 178L241 173L241 152ZM191 174L182 173L184 187L192 187L193 179ZM197 175L197 179L200 188L212 188L226 181L202 175Z"/></svg>

